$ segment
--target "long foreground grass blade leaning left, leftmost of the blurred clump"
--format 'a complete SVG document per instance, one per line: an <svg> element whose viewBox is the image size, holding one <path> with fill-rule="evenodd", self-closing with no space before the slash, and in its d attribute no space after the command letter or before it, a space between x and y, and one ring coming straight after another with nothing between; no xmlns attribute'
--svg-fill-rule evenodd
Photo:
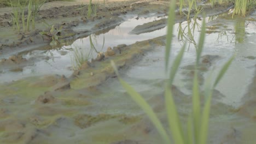
<svg viewBox="0 0 256 144"><path fill-rule="evenodd" d="M169 136L166 133L166 130L162 126L160 120L152 110L152 108L149 106L146 100L143 99L143 97L135 91L128 83L126 83L123 79L118 77L121 85L126 89L127 93L131 96L131 98L146 112L148 115L150 121L155 125L156 129L158 130L159 134L161 135L162 139L165 141L166 144L170 144L171 140L169 139Z"/></svg>

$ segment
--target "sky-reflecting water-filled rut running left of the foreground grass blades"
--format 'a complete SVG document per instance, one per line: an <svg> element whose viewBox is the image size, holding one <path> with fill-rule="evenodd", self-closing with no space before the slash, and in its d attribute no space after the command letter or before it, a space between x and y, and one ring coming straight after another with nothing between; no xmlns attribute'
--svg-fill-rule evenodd
<svg viewBox="0 0 256 144"><path fill-rule="evenodd" d="M160 29L152 33L140 35L132 35L129 34L129 32L137 25L142 25L143 23L159 20L162 18L166 18L166 16L149 16L145 18L136 16L133 18L131 17L130 19L126 18L127 21L121 23L119 26L116 26L114 29L110 29L107 33L100 35L92 34L92 43L94 43L94 45L96 46L97 51L104 52L109 46L114 47L121 44L130 45L132 43L135 43L135 41L142 41L159 37L165 34L166 29ZM81 28L84 27L76 27L74 30L83 31ZM91 51L89 37L75 40L74 43L70 46L62 46L56 49L51 49L48 46L44 46L42 48L39 48L38 50L22 52L24 54L21 53L20 55L28 59L28 62L22 65L16 72L14 72L15 70L8 70L8 68L0 69L2 72L0 73L1 82L19 80L27 76L42 76L48 74L61 74L69 76L73 73L73 49L85 50L87 52ZM93 50L93 52L89 56L89 59L95 58L96 56L97 52ZM17 65L16 67L19 67L19 65ZM18 69L16 67L14 69Z"/></svg>

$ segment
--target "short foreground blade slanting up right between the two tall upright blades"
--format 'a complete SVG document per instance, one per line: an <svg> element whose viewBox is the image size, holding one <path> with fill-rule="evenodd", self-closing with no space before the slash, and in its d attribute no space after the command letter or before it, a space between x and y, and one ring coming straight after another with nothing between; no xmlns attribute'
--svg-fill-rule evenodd
<svg viewBox="0 0 256 144"><path fill-rule="evenodd" d="M185 51L185 47L186 47L186 43L182 46L181 51L179 51L178 55L176 56L176 58L174 59L174 62L172 64L172 69L171 69L171 73L170 73L170 80L169 80L169 85L172 85L172 82L174 80L174 77L177 73L177 70L179 68L179 65L181 64L182 61L182 57Z"/></svg>

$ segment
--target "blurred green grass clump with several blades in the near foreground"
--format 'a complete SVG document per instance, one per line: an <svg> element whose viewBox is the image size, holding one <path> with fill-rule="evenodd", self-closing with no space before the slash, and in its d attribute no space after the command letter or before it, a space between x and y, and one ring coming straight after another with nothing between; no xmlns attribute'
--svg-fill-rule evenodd
<svg viewBox="0 0 256 144"><path fill-rule="evenodd" d="M203 107L200 104L200 88L199 88L199 80L197 77L197 69L196 67L199 65L201 52L203 49L203 43L205 40L205 19L202 22L202 31L199 39L199 43L196 48L196 61L195 61L195 73L193 80L193 106L191 107L191 113L188 116L188 122L186 125L186 130L182 129L181 121L179 119L178 111L176 109L176 104L173 100L172 94L172 83L174 77L177 73L179 65L181 64L182 57L184 54L184 50L186 45L184 44L179 51L177 57L174 59L170 73L168 72L168 65L170 63L169 56L171 52L171 44L172 44L172 33L173 33L173 25L174 25L174 10L175 10L176 1L172 1L170 4L170 11L168 14L168 27L167 27L167 35L166 35L166 50L165 50L165 73L167 81L165 83L165 106L166 106L166 114L168 118L169 128L166 130L162 123L160 122L158 116L153 111L152 107L147 103L143 97L135 91L128 83L126 83L121 77L118 75L118 70L112 61L113 68L115 69L115 73L118 75L118 79L121 85L126 89L127 93L131 96L131 98L146 112L149 119L155 125L159 134L162 137L162 140L165 143L206 143L207 142L207 134L208 134L208 119L210 115L210 107L211 107L211 98L212 98L212 89L214 89L220 79L222 79L225 71L228 69L229 65L232 62L234 57L231 57L228 62L223 66L223 68L219 71L217 78L213 83L209 80L205 82L205 88L203 89L204 96L206 98ZM169 74L168 74L169 73ZM170 139L167 131L171 131L172 139ZM185 133L185 131L187 131Z"/></svg>

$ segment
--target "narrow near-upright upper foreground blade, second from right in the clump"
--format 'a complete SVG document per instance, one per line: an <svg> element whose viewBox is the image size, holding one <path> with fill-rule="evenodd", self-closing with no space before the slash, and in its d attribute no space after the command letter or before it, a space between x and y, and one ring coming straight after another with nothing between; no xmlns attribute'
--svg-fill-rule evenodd
<svg viewBox="0 0 256 144"><path fill-rule="evenodd" d="M200 57L203 49L203 43L205 43L205 29L206 29L205 25L206 25L205 18L203 18L201 34L200 34L199 43L196 51L196 65L199 65L199 61L200 61Z"/></svg>

